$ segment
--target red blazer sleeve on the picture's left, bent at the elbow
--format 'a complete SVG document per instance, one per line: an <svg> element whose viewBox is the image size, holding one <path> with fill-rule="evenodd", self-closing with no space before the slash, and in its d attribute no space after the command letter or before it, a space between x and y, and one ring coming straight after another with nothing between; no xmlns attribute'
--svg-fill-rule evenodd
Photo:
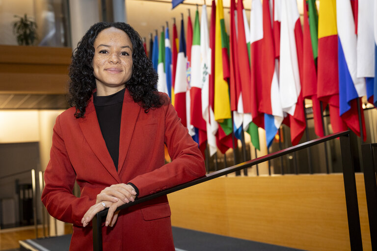
<svg viewBox="0 0 377 251"><path fill-rule="evenodd" d="M59 115L54 125L50 162L44 175L46 185L42 192L42 202L54 218L82 226L82 216L95 200L73 195L76 173L65 147L60 120Z"/></svg>

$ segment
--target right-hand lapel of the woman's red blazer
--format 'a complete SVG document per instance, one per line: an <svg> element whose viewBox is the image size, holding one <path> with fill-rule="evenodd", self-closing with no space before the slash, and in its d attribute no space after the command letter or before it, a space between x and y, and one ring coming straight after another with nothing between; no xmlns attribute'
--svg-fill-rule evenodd
<svg viewBox="0 0 377 251"><path fill-rule="evenodd" d="M129 91L126 89L120 123L118 174L122 171L131 144L132 135L134 134L136 120L141 110L140 108L140 105L135 103Z"/></svg>

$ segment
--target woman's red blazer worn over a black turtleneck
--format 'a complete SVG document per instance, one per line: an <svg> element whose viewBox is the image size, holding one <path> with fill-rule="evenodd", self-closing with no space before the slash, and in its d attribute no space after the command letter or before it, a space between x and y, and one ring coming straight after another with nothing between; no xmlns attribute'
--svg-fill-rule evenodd
<svg viewBox="0 0 377 251"><path fill-rule="evenodd" d="M82 227L81 219L105 187L132 182L143 197L205 175L197 144L164 97L162 107L145 113L126 90L118 172L102 137L93 97L84 118L74 117L74 107L56 118L42 201L54 218L73 223L70 250L93 250L92 228ZM172 159L168 164L164 144ZM75 180L80 198L72 194ZM174 250L166 196L122 210L115 226L102 230L104 251Z"/></svg>

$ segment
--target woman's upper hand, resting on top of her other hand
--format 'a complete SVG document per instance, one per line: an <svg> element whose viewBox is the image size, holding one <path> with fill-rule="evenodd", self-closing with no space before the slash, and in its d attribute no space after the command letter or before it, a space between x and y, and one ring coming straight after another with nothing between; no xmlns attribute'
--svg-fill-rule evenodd
<svg viewBox="0 0 377 251"><path fill-rule="evenodd" d="M101 201L117 202L118 200L125 203L135 201L136 191L133 186L129 184L114 184L101 191L97 195L96 203Z"/></svg>

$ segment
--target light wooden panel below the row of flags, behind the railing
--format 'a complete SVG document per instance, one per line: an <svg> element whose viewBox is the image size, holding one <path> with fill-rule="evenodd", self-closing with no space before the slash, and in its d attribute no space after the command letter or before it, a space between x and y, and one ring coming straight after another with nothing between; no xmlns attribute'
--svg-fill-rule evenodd
<svg viewBox="0 0 377 251"><path fill-rule="evenodd" d="M364 250L371 250L362 174ZM350 250L343 176L220 177L169 195L173 226L310 251Z"/></svg>

